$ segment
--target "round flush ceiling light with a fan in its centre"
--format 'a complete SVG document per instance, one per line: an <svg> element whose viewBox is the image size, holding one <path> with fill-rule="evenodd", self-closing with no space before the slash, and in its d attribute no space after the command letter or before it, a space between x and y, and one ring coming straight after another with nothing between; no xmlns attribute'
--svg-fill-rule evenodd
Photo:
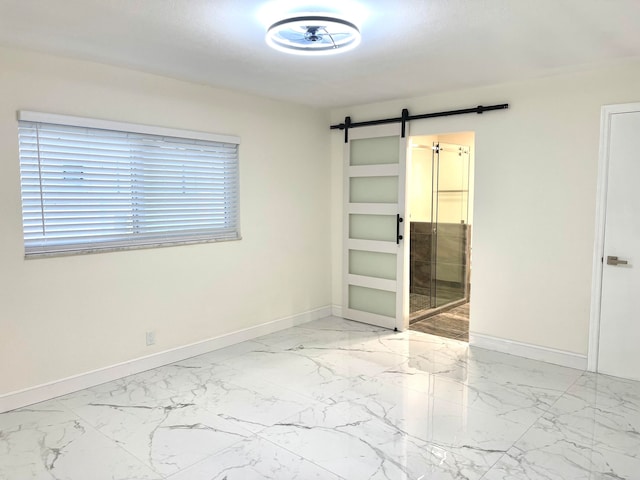
<svg viewBox="0 0 640 480"><path fill-rule="evenodd" d="M360 43L360 30L353 23L329 15L285 18L269 27L267 44L298 55L329 55L352 50Z"/></svg>

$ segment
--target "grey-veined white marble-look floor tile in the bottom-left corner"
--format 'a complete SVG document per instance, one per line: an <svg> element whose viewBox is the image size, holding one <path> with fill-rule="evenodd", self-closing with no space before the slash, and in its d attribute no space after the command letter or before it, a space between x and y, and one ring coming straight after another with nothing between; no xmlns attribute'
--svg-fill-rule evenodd
<svg viewBox="0 0 640 480"><path fill-rule="evenodd" d="M0 415L3 480L160 480L162 477L62 406Z"/></svg>

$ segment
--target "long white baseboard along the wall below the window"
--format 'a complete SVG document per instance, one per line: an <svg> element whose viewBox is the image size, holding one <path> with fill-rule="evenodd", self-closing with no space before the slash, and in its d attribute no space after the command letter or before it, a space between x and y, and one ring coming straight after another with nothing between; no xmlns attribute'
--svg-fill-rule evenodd
<svg viewBox="0 0 640 480"><path fill-rule="evenodd" d="M196 355L202 355L203 353L261 337L262 335L284 330L285 328L302 325L313 320L328 317L331 315L331 312L332 308L330 306L326 306L298 315L280 318L261 325L256 325L255 327L238 330L237 332L227 333L225 335L209 338L200 342L172 348L170 350L165 350L164 352L154 353L152 355L128 360L116 365L29 387L24 390L5 393L0 395L0 413L45 400L50 400L84 388L93 387L95 385L100 385L101 383L126 377L127 375L144 372L151 368L195 357Z"/></svg>

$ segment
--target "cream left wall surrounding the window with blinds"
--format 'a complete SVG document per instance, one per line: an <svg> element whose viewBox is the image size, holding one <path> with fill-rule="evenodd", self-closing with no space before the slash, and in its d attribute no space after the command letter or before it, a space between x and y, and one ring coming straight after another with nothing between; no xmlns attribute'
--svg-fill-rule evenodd
<svg viewBox="0 0 640 480"><path fill-rule="evenodd" d="M0 91L0 394L330 304L325 113L11 49ZM25 260L20 109L239 135L243 240Z"/></svg>

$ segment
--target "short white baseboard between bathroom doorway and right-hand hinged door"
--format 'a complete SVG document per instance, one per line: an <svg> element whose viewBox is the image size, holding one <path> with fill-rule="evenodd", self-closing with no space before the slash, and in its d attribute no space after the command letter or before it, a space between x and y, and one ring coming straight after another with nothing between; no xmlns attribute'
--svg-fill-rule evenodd
<svg viewBox="0 0 640 480"><path fill-rule="evenodd" d="M578 370L587 369L586 355L541 347L540 345L531 345L473 332L469 333L469 345L494 350L496 352L509 353L518 357L562 365L563 367L577 368Z"/></svg>

